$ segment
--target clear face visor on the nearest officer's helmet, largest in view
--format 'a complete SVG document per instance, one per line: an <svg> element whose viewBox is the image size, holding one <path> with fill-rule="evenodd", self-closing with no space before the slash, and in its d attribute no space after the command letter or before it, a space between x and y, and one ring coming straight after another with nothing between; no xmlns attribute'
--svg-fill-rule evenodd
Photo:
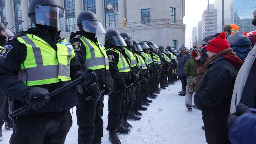
<svg viewBox="0 0 256 144"><path fill-rule="evenodd" d="M65 29L65 10L52 6L35 6L35 22L37 24Z"/></svg>

